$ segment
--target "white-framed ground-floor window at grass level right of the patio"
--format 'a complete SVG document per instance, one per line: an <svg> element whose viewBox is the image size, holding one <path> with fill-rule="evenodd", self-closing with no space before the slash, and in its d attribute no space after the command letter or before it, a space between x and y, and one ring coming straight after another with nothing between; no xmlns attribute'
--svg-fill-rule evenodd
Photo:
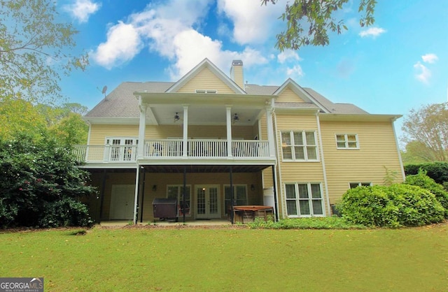
<svg viewBox="0 0 448 292"><path fill-rule="evenodd" d="M320 183L285 184L286 210L289 217L324 216Z"/></svg>

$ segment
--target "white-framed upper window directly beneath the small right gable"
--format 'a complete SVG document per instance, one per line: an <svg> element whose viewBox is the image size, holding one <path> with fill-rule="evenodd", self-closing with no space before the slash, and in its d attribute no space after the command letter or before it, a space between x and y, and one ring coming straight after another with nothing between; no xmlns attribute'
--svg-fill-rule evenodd
<svg viewBox="0 0 448 292"><path fill-rule="evenodd" d="M317 161L316 132L281 131L283 160Z"/></svg>

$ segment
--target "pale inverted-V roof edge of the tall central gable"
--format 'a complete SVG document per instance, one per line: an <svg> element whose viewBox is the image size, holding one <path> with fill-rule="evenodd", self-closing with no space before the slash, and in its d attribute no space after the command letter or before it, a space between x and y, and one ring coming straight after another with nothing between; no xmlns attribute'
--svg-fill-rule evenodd
<svg viewBox="0 0 448 292"><path fill-rule="evenodd" d="M209 61L209 59L207 58L202 60L200 64L197 64L195 68L190 70L190 72L184 75L183 78L181 78L178 82L174 83L174 85L170 87L167 90L167 92L177 92L179 89L181 89L181 87L183 87L183 85L186 85L188 81L195 78L197 73L200 73L200 71L202 71L202 69L204 68L209 68L209 70L213 72L216 75L216 77L221 79L221 81L223 81L225 85L230 87L230 89L232 89L236 94L246 94L246 92L244 92L244 90L241 89L241 87L239 87L237 83L235 83L235 81L230 79L228 75L225 75L223 71L221 71L218 67L216 67L215 64L211 63L211 61Z"/></svg>

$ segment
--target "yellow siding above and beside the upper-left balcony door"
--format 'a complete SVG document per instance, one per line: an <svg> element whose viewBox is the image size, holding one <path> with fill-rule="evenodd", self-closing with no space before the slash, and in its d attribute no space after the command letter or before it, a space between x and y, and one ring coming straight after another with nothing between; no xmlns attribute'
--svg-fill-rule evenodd
<svg viewBox="0 0 448 292"><path fill-rule="evenodd" d="M139 137L138 125L92 124L90 145L104 145L106 137Z"/></svg>

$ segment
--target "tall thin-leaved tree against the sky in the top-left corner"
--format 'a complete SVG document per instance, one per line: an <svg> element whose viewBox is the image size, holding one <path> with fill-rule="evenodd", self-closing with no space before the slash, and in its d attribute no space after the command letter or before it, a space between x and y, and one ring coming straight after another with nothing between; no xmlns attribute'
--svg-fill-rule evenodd
<svg viewBox="0 0 448 292"><path fill-rule="evenodd" d="M55 20L52 0L0 0L0 12L0 102L62 97L59 73L88 64L87 54L70 52L78 31Z"/></svg>

